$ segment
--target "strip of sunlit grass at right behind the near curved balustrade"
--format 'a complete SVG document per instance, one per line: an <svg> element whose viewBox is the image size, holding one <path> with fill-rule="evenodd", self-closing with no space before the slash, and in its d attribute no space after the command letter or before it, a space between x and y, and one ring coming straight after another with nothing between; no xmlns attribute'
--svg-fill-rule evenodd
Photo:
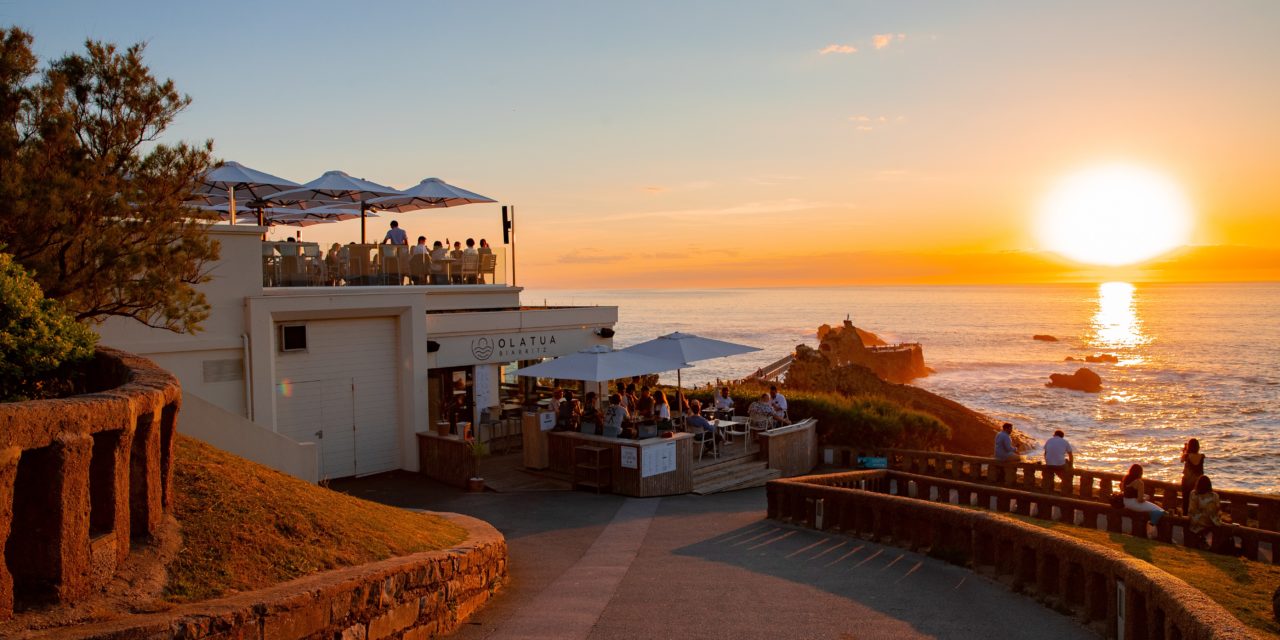
<svg viewBox="0 0 1280 640"><path fill-rule="evenodd" d="M1001 515L1010 516L1009 513ZM1206 595L1240 618L1240 622L1272 637L1280 637L1280 625L1271 614L1271 594L1280 586L1280 566L1188 549L1132 535L1084 529L1064 522L1023 516L1011 517L1147 561L1204 591Z"/></svg>

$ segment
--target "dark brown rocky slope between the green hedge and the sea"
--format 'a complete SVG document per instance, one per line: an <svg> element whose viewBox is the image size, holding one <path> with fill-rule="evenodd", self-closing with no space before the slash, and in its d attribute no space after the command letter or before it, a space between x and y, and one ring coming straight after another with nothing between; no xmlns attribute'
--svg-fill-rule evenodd
<svg viewBox="0 0 1280 640"><path fill-rule="evenodd" d="M991 456L1000 421L973 411L959 402L943 398L909 384L881 379L876 371L858 364L836 365L827 352L800 344L795 361L787 370L787 388L835 392L844 396L881 397L906 408L929 413L951 428L946 451L972 456ZM1019 449L1034 445L1027 436L1014 433Z"/></svg>

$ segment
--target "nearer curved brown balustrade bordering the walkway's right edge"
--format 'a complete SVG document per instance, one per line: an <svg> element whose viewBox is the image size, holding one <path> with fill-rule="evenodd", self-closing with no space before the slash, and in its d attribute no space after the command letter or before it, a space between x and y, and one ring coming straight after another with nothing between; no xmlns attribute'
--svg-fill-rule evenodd
<svg viewBox="0 0 1280 640"><path fill-rule="evenodd" d="M922 495L943 486L947 495L954 495L955 485L966 484L973 492L970 497L986 492L992 498L1007 498L1012 492L1021 494L1027 504L1033 504L1033 499L1070 500L1080 503L1070 508L1098 508L1089 500L1015 489L896 471L855 471L771 481L768 516L897 544L975 571L1007 576L1014 590L1074 613L1107 637L1254 637L1203 593L1120 552L983 511L882 493L908 489L911 484Z"/></svg>

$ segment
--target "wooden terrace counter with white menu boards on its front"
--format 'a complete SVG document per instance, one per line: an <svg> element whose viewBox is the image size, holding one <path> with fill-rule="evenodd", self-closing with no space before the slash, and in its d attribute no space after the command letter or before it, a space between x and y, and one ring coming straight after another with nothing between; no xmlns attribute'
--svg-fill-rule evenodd
<svg viewBox="0 0 1280 640"><path fill-rule="evenodd" d="M549 431L549 463L553 471L577 476L577 447L599 447L608 452L611 490L618 495L650 498L678 495L694 489L694 436L676 433L671 438L630 440L588 435L576 431Z"/></svg>

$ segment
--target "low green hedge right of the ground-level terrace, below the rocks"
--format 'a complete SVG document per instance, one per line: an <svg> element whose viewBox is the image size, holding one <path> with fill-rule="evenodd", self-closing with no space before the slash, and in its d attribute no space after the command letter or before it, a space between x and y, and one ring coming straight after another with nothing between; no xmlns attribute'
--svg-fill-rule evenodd
<svg viewBox="0 0 1280 640"><path fill-rule="evenodd" d="M737 413L760 397L765 388L739 385L730 390ZM938 449L951 436L951 429L937 417L876 396L783 389L792 421L818 420L818 440L837 447L867 451L882 448ZM705 406L713 402L708 389L687 392L690 399Z"/></svg>

